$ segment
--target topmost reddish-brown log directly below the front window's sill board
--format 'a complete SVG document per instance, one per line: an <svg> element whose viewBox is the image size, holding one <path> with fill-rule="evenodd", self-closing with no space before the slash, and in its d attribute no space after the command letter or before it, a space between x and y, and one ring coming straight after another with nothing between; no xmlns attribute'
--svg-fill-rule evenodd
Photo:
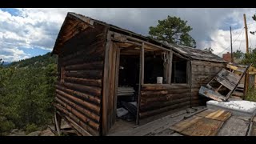
<svg viewBox="0 0 256 144"><path fill-rule="evenodd" d="M142 90L143 97L162 97L166 94L184 94L190 93L190 89L174 89L174 90Z"/></svg>

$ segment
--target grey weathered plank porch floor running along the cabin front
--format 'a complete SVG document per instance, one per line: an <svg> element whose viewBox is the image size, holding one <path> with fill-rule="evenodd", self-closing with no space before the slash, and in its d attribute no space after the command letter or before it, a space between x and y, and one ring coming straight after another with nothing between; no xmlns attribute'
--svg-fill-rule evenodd
<svg viewBox="0 0 256 144"><path fill-rule="evenodd" d="M158 118L153 122L146 123L142 126L135 126L134 122L124 122L118 120L114 127L109 131L108 136L164 136L164 135L180 135L174 133L174 130L170 130L170 126L176 122L182 121L184 116L193 114L197 110L201 110L206 106L200 106L197 108L188 108L186 110L180 110L173 114L169 114L166 117Z"/></svg>

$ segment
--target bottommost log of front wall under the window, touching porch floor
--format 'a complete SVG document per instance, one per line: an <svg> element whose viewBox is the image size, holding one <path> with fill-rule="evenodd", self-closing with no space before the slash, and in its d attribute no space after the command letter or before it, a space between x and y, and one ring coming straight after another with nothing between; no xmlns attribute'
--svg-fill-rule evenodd
<svg viewBox="0 0 256 144"><path fill-rule="evenodd" d="M157 109L157 110L150 110L150 111L146 111L146 112L140 112L139 116L140 116L140 118L146 118L146 117L152 116L154 114L161 114L162 112L166 112L168 110L174 110L174 109L177 109L179 107L186 106L186 105L189 106L190 102L182 102L182 103L178 103L178 104L175 104L175 105L172 105L172 106L162 107L162 108Z"/></svg>

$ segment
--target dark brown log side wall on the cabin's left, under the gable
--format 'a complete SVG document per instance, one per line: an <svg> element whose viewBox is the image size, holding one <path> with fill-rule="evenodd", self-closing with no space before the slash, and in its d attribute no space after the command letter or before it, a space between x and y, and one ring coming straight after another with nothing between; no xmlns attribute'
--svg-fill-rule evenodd
<svg viewBox="0 0 256 144"><path fill-rule="evenodd" d="M86 135L101 131L105 47L106 28L95 25L70 38L58 58L55 107Z"/></svg>

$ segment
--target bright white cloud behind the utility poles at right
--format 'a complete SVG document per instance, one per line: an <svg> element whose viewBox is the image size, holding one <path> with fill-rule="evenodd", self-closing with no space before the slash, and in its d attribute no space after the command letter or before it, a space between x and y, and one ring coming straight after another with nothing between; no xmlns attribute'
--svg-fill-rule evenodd
<svg viewBox="0 0 256 144"><path fill-rule="evenodd" d="M239 26L237 29L232 30L233 51L242 50L246 52L246 34L244 29L243 14L246 14L246 22L248 27L248 42L249 47L256 48L256 35L250 34L250 31L256 30L256 22L251 18L255 14L255 10L242 9L240 11L233 11L228 17L233 18L233 23L230 26ZM229 26L226 26L229 28ZM211 41L201 40L199 46L202 48L211 47L214 49L214 54L222 57L222 54L230 52L230 30L214 30L210 34Z"/></svg>

